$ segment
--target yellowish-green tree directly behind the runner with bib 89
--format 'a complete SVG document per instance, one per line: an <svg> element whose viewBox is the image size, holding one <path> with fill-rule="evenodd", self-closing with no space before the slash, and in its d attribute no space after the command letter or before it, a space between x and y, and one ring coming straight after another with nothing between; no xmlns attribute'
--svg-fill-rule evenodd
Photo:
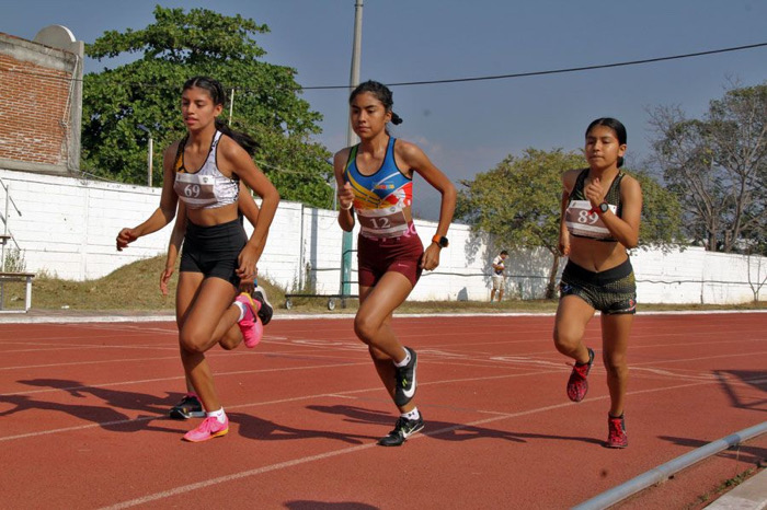
<svg viewBox="0 0 767 510"><path fill-rule="evenodd" d="M545 247L551 254L547 298L554 297L560 265L559 225L562 172L585 167L580 152L527 149L522 158L506 157L493 170L463 181L457 217L488 232L511 248ZM669 246L677 242L679 206L673 194L645 172L631 172L642 186L640 242Z"/></svg>

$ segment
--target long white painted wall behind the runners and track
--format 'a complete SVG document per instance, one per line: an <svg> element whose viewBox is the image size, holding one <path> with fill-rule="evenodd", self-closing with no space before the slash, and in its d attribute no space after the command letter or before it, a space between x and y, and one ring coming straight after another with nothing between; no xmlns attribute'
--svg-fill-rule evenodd
<svg viewBox="0 0 767 510"><path fill-rule="evenodd" d="M0 182L9 187L12 199L8 213L2 210L14 237L9 246L18 243L30 271L95 279L125 264L165 253L170 225L124 252L115 250L119 229L138 224L157 208L158 188L8 170L0 170ZM5 204L7 194L0 187L0 207ZM342 232L335 217L333 211L281 202L259 264L260 274L289 291L312 283L318 293L337 293ZM416 220L415 224L421 239L428 242L436 223ZM4 227L0 224L0 232ZM486 235L474 235L469 227L457 223L450 227L449 239L450 247L443 250L438 269L424 273L411 299L489 298L490 262L503 246L494 246ZM356 234L354 240L356 248ZM352 279L356 281L356 256L353 260ZM673 253L636 250L632 263L640 303L747 302L754 299L748 282L757 285L767 277L765 257L697 247ZM508 295L541 298L550 266L545 250L511 254L506 263ZM767 299L767 286L764 290L760 300Z"/></svg>

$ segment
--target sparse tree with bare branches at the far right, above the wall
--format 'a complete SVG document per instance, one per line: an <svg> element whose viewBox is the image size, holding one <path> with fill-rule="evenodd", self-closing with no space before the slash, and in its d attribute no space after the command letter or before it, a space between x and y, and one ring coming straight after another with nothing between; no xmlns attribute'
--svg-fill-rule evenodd
<svg viewBox="0 0 767 510"><path fill-rule="evenodd" d="M682 202L687 235L710 251L764 251L767 84L730 89L702 119L662 106L651 123L655 161Z"/></svg>

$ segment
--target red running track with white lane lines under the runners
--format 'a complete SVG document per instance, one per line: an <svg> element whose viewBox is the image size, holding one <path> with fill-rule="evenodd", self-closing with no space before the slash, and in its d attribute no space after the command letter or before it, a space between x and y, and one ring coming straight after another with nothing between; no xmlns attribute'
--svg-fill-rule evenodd
<svg viewBox="0 0 767 510"><path fill-rule="evenodd" d="M587 343L600 350L598 317ZM174 324L0 324L3 508L570 508L767 412L767 314L638 315L629 448L609 450L608 394L568 401L552 316L398 317L420 355L425 433L396 420L350 318L277 316L253 350L209 352L227 437L181 441ZM597 360L599 360L597 352ZM684 508L765 457L767 440L621 503Z"/></svg>

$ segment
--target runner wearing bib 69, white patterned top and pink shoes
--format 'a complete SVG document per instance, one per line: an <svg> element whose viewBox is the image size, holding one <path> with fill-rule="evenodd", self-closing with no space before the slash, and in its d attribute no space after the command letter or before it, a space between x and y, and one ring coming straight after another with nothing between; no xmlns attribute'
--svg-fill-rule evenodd
<svg viewBox="0 0 767 510"><path fill-rule="evenodd" d="M184 434L192 442L226 434L229 420L221 406L205 352L225 338L253 346L260 339L259 303L237 294L240 279L252 279L279 195L255 166L255 142L217 119L226 93L207 77L186 81L181 112L188 137L163 153L160 207L144 223L117 234L117 250L170 223L179 198L188 221L176 288L181 360L206 418ZM238 217L239 182L261 198L250 240ZM225 340L226 341L226 340Z"/></svg>

